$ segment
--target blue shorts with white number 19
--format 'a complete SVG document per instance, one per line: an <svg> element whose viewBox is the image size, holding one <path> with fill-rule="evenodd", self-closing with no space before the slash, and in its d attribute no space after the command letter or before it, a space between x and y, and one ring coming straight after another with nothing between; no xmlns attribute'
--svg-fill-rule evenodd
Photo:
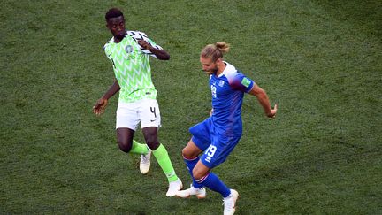
<svg viewBox="0 0 382 215"><path fill-rule="evenodd" d="M200 150L204 151L200 157L202 164L210 169L225 162L241 139L241 135L225 136L215 132L210 118L191 127L189 132L193 135L192 141Z"/></svg>

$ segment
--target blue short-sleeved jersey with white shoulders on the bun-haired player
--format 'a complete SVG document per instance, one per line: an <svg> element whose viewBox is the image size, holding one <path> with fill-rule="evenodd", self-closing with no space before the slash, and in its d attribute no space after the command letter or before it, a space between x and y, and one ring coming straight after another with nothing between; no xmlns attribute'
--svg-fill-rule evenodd
<svg viewBox="0 0 382 215"><path fill-rule="evenodd" d="M210 75L212 94L211 116L215 132L225 136L241 136L241 104L244 93L248 93L255 82L225 62L225 70L219 76Z"/></svg>

